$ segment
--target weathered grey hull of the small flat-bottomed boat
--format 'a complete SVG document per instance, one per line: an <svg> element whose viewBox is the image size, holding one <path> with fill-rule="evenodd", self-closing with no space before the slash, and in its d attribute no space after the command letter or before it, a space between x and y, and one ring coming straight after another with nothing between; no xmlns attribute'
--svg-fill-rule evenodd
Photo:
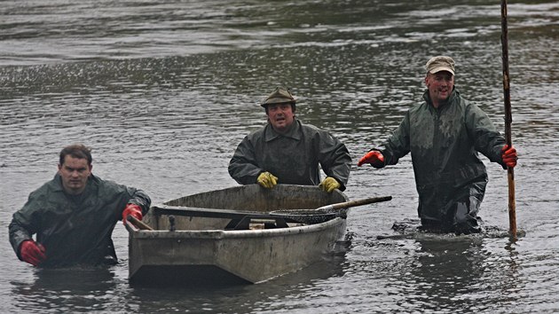
<svg viewBox="0 0 559 314"><path fill-rule="evenodd" d="M343 201L347 198L342 192L326 193L316 186L280 184L264 190L251 184L194 194L163 205L177 210L232 209L264 214L279 208L319 208ZM234 220L230 217L173 215L171 223L169 215L158 215L155 209L144 218L153 231L127 224L132 284L262 282L319 262L346 230L343 217L320 224L290 222L287 227L278 227L265 215L263 219L254 216L250 229L229 230L225 228Z"/></svg>

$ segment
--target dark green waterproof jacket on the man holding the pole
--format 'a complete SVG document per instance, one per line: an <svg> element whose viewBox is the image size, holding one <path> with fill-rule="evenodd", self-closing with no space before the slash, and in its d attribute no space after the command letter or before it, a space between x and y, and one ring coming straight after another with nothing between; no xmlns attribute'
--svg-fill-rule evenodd
<svg viewBox="0 0 559 314"><path fill-rule="evenodd" d="M424 101L413 106L392 136L378 150L385 165L393 165L412 153L415 184L420 196L419 216L443 221L452 205L453 195L468 192L468 184L486 182L484 163L478 153L490 161L504 163L500 150L505 139L479 107L461 98L453 90L447 102L435 108L429 92ZM483 200L484 189L476 198Z"/></svg>

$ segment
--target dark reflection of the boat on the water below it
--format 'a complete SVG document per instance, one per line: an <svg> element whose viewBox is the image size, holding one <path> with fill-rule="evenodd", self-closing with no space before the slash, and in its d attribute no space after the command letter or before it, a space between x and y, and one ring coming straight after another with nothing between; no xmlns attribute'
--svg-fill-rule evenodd
<svg viewBox="0 0 559 314"><path fill-rule="evenodd" d="M324 297L325 283L343 276L350 235L339 241L322 262L256 285L239 287L133 287L130 301L143 313L188 311L192 304L207 312L278 312L311 310ZM293 296L295 295L295 297Z"/></svg>

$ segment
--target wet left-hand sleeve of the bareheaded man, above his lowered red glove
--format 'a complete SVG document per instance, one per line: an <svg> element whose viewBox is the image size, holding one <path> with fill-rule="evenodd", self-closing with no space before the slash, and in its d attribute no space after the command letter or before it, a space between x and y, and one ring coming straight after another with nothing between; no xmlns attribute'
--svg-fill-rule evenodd
<svg viewBox="0 0 559 314"><path fill-rule="evenodd" d="M8 226L10 244L12 245L13 251L20 259L21 242L26 239L33 239L33 234L40 228L39 211L40 207L38 206L35 194L31 193L28 202L23 208L13 214L12 222Z"/></svg>

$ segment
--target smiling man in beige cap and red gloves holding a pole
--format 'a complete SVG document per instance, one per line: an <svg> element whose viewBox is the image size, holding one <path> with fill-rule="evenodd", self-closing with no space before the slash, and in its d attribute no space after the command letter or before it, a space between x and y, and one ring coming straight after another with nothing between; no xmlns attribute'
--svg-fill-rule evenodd
<svg viewBox="0 0 559 314"><path fill-rule="evenodd" d="M516 149L505 144L487 114L454 88L452 58L431 58L426 70L422 101L358 166L370 163L380 169L412 153L421 229L481 232L477 213L488 179L478 152L507 169L516 166Z"/></svg>

